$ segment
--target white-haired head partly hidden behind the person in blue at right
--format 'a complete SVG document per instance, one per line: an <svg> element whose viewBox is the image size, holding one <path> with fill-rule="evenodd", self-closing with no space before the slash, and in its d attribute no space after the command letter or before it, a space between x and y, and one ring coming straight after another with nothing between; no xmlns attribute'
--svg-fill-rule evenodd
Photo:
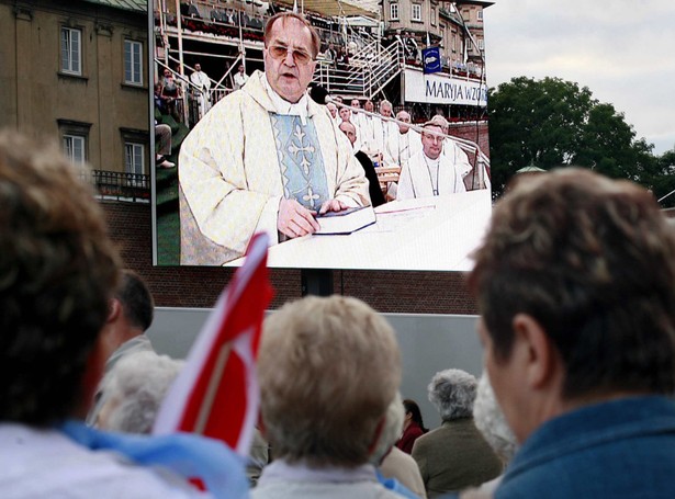
<svg viewBox="0 0 675 499"><path fill-rule="evenodd" d="M473 422L499 458L508 463L518 450L518 442L506 422L487 374L479 379L473 402Z"/></svg>

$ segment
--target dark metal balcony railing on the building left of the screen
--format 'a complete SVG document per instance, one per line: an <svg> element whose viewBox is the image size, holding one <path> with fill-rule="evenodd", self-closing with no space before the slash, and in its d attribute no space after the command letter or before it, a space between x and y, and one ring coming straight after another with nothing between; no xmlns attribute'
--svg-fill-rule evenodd
<svg viewBox="0 0 675 499"><path fill-rule="evenodd" d="M150 175L91 170L85 172L83 177L95 188L99 200L150 202Z"/></svg>

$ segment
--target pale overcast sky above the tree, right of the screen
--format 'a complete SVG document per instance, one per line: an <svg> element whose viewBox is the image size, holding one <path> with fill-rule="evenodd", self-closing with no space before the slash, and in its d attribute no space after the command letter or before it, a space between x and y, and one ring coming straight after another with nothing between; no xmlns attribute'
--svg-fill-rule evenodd
<svg viewBox="0 0 675 499"><path fill-rule="evenodd" d="M675 1L494 0L487 84L558 77L614 104L654 154L675 148Z"/></svg>

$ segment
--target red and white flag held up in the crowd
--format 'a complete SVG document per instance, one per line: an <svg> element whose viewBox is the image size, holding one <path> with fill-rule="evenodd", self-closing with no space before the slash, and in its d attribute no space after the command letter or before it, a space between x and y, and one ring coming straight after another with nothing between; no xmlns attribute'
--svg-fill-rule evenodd
<svg viewBox="0 0 675 499"><path fill-rule="evenodd" d="M254 236L162 401L154 434L199 433L248 455L260 401L256 359L273 295L267 247L267 235Z"/></svg>

